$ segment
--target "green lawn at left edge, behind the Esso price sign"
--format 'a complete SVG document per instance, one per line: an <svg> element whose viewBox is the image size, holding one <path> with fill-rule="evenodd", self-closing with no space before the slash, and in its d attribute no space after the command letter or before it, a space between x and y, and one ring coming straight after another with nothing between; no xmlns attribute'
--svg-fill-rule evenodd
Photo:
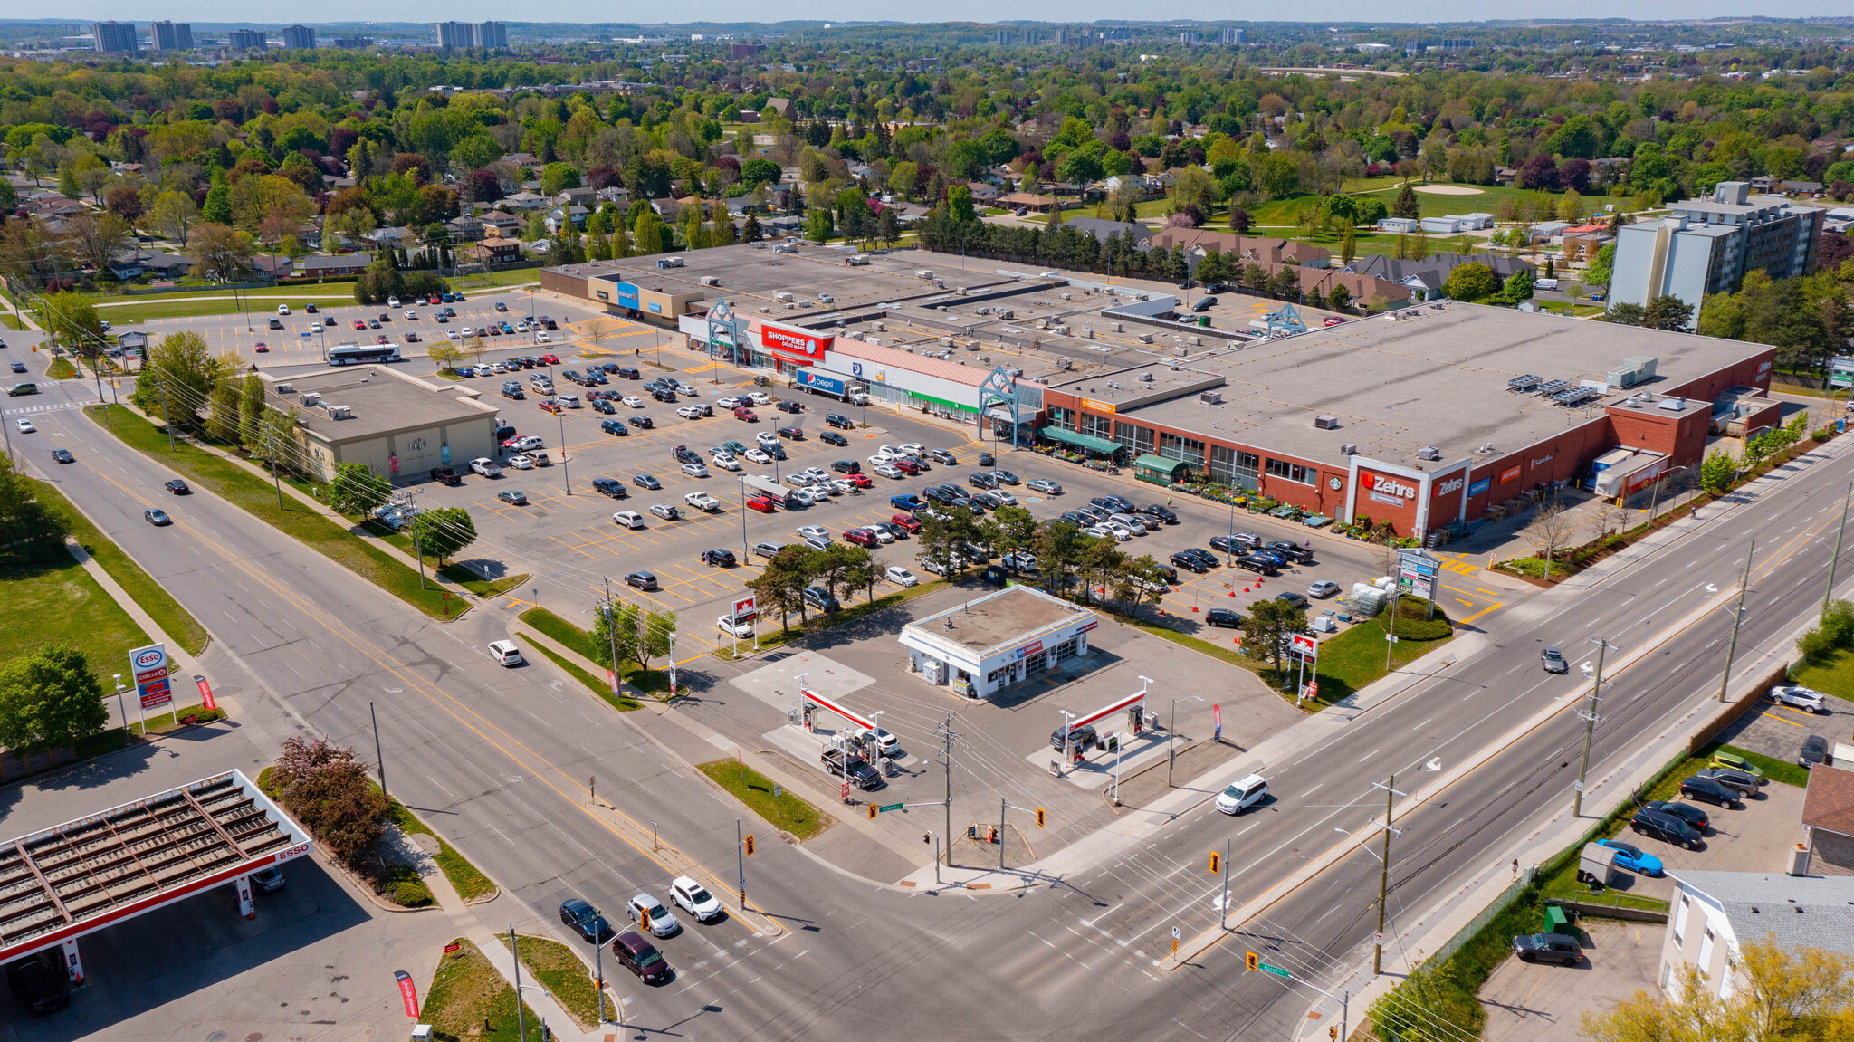
<svg viewBox="0 0 1854 1042"><path fill-rule="evenodd" d="M44 564L0 569L0 662L70 645L108 692L109 675L126 673L130 649L145 643L148 634L70 554L59 551Z"/></svg>

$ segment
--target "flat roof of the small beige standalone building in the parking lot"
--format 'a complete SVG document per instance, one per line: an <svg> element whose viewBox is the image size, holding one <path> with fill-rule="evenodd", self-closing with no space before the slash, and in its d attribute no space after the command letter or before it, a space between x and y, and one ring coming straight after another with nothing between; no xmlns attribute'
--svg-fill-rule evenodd
<svg viewBox="0 0 1854 1042"><path fill-rule="evenodd" d="M297 410L297 423L323 441L352 441L393 430L439 423L495 421L497 408L476 391L425 382L386 365L345 365L326 373L265 376L265 399L276 408ZM278 388L291 391L278 393ZM304 406L302 395L317 393L321 406ZM334 419L324 406L349 406L350 419Z"/></svg>

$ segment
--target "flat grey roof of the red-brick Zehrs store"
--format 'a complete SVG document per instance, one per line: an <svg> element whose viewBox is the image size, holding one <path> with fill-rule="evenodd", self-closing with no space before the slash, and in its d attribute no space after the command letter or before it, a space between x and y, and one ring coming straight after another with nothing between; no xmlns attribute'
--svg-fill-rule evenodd
<svg viewBox="0 0 1854 1042"><path fill-rule="evenodd" d="M1346 465L1340 445L1363 456L1416 465L1416 451L1437 447L1444 458L1465 456L1492 443L1515 451L1585 423L1632 391L1656 397L1670 388L1771 350L1767 345L1617 326L1550 313L1526 313L1481 304L1426 304L1392 319L1379 315L1305 334L1255 341L1188 358L1179 373L1142 365L1112 375L1133 388L1138 373L1185 386L1192 376L1220 375L1222 404L1181 395L1120 415L1198 432L1207 438L1279 449L1303 460ZM1513 376L1544 380L1606 380L1626 358L1652 356L1656 376L1632 391L1604 393L1585 406L1565 408L1541 395L1507 389ZM1114 400L1109 376L1055 384L1051 391ZM1125 391L1133 395L1133 391ZM1711 410L1689 400L1685 410ZM1339 419L1337 430L1313 425L1316 415ZM1676 415L1656 412L1656 415Z"/></svg>

